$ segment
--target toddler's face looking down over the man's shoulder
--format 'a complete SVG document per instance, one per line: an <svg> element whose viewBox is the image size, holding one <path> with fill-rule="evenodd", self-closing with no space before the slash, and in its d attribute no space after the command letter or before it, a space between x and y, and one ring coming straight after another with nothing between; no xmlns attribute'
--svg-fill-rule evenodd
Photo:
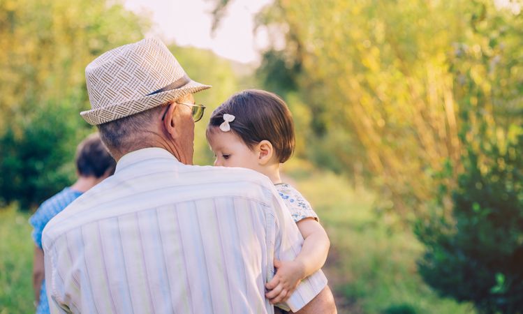
<svg viewBox="0 0 523 314"><path fill-rule="evenodd" d="M259 171L258 154L252 151L240 137L232 132L222 132L218 128L208 136L216 159L214 165L223 167L244 167Z"/></svg>

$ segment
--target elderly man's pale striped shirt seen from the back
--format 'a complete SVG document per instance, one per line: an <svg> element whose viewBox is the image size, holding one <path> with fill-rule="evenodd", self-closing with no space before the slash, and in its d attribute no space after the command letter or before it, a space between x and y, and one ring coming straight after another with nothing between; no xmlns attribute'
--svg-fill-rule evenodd
<svg viewBox="0 0 523 314"><path fill-rule="evenodd" d="M140 149L47 223L47 296L52 313L274 313L272 261L302 241L267 177ZM286 306L326 283L316 272Z"/></svg>

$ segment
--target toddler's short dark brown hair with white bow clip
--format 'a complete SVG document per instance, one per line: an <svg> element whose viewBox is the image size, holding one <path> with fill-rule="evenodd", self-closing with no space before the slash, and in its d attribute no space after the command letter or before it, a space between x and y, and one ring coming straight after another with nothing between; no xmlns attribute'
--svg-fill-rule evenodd
<svg viewBox="0 0 523 314"><path fill-rule="evenodd" d="M295 147L294 122L286 103L276 94L247 89L230 96L212 112L207 137L223 123L223 114L232 114L230 131L248 147L263 140L271 142L280 163L293 155Z"/></svg>

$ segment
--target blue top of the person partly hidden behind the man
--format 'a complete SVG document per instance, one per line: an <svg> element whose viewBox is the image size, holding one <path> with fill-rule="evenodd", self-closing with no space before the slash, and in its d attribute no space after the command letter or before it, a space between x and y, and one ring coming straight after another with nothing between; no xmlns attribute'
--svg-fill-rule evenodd
<svg viewBox="0 0 523 314"><path fill-rule="evenodd" d="M43 202L36 210L33 216L29 218L29 223L34 227L32 237L33 241L39 248L42 248L42 232L45 225L57 216L60 211L68 207L73 200L82 195L82 192L73 190L72 188L64 188L49 200ZM47 303L47 294L45 293L45 280L42 282L40 289L40 304L36 308L37 314L50 313L49 304Z"/></svg>

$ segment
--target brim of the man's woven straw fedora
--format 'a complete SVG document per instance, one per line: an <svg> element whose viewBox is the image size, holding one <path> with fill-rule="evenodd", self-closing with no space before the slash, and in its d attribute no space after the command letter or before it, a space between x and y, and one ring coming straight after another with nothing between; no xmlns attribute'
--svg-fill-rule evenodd
<svg viewBox="0 0 523 314"><path fill-rule="evenodd" d="M170 89L158 94L127 100L123 103L117 103L115 105L109 105L94 110L82 111L80 112L80 116L82 116L88 124L91 124L91 126L96 126L144 112L145 110L163 105L172 100L177 100L188 94L195 94L198 91L203 91L209 88L211 88L210 85L201 84L191 80L189 83L179 87L178 89Z"/></svg>

